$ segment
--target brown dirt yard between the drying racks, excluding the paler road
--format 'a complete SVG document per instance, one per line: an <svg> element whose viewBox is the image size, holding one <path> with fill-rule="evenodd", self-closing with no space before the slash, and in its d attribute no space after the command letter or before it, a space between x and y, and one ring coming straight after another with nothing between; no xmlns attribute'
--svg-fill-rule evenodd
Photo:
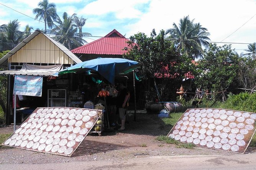
<svg viewBox="0 0 256 170"><path fill-rule="evenodd" d="M2 146L0 164L43 164L74 162L86 160L128 160L134 157L174 156L174 155L234 155L236 153L216 151L195 147L194 149L177 148L174 144L156 141L156 136L167 135L171 128L155 114L137 111L136 122L133 112L128 112L128 122L124 131L114 130L98 134L89 134L80 144L72 157ZM0 127L0 133L11 133L13 126ZM142 147L144 146L144 147ZM246 153L256 152L248 148Z"/></svg>

